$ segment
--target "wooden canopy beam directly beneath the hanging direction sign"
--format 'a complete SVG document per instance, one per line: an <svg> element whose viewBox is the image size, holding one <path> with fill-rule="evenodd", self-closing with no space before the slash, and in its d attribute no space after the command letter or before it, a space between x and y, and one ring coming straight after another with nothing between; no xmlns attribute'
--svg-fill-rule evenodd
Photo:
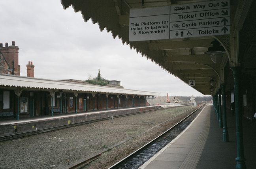
<svg viewBox="0 0 256 169"><path fill-rule="evenodd" d="M184 48L205 48L211 47L211 42L214 39L198 39L198 40L187 40L187 41L169 41L169 42L158 42L149 43L148 47L151 50L173 50L173 49L184 49Z"/></svg>

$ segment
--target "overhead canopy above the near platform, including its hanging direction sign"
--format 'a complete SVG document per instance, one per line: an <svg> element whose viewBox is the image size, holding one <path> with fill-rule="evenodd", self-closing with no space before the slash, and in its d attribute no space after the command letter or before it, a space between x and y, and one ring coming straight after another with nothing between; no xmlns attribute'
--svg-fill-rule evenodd
<svg viewBox="0 0 256 169"><path fill-rule="evenodd" d="M252 0L61 0L61 3L64 9L72 6L75 12L80 11L85 22L91 19L101 31L111 32L114 38L122 39L123 44L129 44L204 95L215 94L224 82L226 65L241 66L239 58L246 60L242 63L248 68L245 71L255 74L252 65L256 63L255 57L246 55L256 52L252 48L255 20L250 16L254 19L256 16Z"/></svg>

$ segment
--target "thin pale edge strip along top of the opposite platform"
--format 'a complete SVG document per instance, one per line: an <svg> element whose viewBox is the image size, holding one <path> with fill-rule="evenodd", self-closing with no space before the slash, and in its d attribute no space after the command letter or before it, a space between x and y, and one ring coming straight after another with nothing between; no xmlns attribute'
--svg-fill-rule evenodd
<svg viewBox="0 0 256 169"><path fill-rule="evenodd" d="M155 106L143 106L143 107L136 107L136 108L122 108L122 109L115 109L115 110L102 110L102 111L96 111L96 112L90 112L90 113L77 113L77 114L70 114L70 115L63 115L63 116L53 116L53 117L44 117L39 119L30 119L30 120L23 120L23 121L13 121L9 123L0 123L0 126L2 125L8 125L8 124L17 124L17 123L27 123L27 122L35 122L35 121L43 121L43 120L54 120L54 119L62 119L66 117L77 117L82 115L89 115L89 114L97 114L97 113L105 113L105 112L111 112L111 111L124 111L124 110L131 110L131 109L139 109L139 108L149 108L149 107L156 107ZM64 114L64 113L63 113Z"/></svg>

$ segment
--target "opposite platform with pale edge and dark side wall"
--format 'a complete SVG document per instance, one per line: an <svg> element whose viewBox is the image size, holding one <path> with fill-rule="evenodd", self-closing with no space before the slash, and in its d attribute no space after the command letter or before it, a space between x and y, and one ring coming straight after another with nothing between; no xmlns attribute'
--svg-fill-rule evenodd
<svg viewBox="0 0 256 169"><path fill-rule="evenodd" d="M84 113L65 113L56 114L54 116L28 117L22 120L11 120L0 122L0 136L8 136L23 132L32 132L40 129L74 124L97 119L109 118L111 116L129 115L132 113L140 113L143 111L157 110L161 106L146 106L126 109L112 109L102 111L91 111Z"/></svg>

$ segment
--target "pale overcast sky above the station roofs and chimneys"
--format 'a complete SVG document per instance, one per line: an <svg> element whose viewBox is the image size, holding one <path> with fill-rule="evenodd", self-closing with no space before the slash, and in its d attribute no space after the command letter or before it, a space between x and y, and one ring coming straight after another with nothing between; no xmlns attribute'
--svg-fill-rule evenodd
<svg viewBox="0 0 256 169"><path fill-rule="evenodd" d="M84 22L60 0L0 1L0 43L19 46L21 76L33 61L35 78L87 80L97 76L121 81L126 89L152 91L161 96L203 96L158 67L98 24Z"/></svg>

